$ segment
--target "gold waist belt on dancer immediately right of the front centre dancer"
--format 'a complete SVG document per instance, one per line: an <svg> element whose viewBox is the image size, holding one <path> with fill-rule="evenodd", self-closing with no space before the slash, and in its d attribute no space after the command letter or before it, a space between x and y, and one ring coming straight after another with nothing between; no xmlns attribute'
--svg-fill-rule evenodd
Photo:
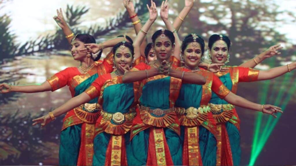
<svg viewBox="0 0 296 166"><path fill-rule="evenodd" d="M187 109L177 107L176 113L179 115L183 115L186 113L186 118L188 119L195 119L198 117L198 114L209 113L210 106L209 105L202 105L199 108L189 107Z"/></svg>

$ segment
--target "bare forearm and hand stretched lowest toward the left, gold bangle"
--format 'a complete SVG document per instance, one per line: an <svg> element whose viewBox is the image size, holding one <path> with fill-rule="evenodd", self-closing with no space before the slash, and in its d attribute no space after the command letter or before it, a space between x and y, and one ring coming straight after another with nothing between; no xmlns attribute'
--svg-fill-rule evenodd
<svg viewBox="0 0 296 166"><path fill-rule="evenodd" d="M62 115L76 107L78 107L81 104L84 104L91 100L89 95L86 92L81 93L78 96L75 96L68 100L65 104L61 105L59 108L53 110L51 112L51 115L53 116L52 118L58 117L59 115ZM33 125L36 125L38 123L41 123L41 127L45 126L49 122L51 122L53 119L50 117L49 114L44 115L40 118L33 119Z"/></svg>

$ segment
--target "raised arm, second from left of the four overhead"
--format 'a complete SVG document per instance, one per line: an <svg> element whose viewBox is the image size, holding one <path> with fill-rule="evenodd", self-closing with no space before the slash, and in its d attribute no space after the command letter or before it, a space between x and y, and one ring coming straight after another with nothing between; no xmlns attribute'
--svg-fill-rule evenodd
<svg viewBox="0 0 296 166"><path fill-rule="evenodd" d="M147 4L147 8L149 11L149 19L147 22L144 24L142 29L140 30L141 32L138 33L134 43L133 43L133 48L134 48L134 56L135 58L139 58L141 56L141 43L144 40L145 36L147 35L147 32L149 31L151 25L154 23L154 21L157 18L157 10L156 10L156 4L151 1L151 6L149 7Z"/></svg>

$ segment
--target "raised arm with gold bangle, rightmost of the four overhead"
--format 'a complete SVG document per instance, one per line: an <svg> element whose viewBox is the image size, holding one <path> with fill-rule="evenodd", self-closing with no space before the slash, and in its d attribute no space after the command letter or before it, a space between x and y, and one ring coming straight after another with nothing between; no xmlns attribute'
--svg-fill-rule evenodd
<svg viewBox="0 0 296 166"><path fill-rule="evenodd" d="M182 11L179 13L178 17L176 17L175 21L173 22L173 27L176 29L178 32L184 19L192 9L194 4L194 0L185 0L185 6L182 9Z"/></svg>

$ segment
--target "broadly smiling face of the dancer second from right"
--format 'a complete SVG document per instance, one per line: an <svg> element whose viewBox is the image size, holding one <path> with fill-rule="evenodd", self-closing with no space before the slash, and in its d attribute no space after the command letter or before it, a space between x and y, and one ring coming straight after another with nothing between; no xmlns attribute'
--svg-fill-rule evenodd
<svg viewBox="0 0 296 166"><path fill-rule="evenodd" d="M200 44L196 46L192 43L188 43L184 50L183 56L186 67L188 67L189 69L196 68L202 58Z"/></svg>

